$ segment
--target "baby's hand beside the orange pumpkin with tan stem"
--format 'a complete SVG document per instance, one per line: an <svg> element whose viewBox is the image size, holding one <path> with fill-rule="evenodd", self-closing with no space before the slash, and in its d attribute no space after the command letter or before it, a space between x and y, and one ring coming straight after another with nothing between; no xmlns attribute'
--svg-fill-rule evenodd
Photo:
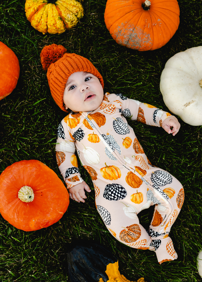
<svg viewBox="0 0 202 282"><path fill-rule="evenodd" d="M89 186L83 181L82 183L79 183L77 185L75 185L74 187L72 188L69 188L68 189L68 192L69 192L69 197L80 203L80 202L85 202L84 199L86 199L87 197L85 196L85 191L84 189L87 191L87 192L90 192L91 189L89 188Z"/></svg>

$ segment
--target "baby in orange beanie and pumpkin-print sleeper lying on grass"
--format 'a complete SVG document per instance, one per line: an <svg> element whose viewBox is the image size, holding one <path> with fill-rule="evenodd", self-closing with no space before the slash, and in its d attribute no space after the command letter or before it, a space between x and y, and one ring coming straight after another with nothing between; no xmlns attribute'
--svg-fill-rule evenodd
<svg viewBox="0 0 202 282"><path fill-rule="evenodd" d="M44 47L41 63L48 69L50 92L67 116L58 126L56 159L70 198L84 202L89 186L81 178L78 156L90 174L96 208L109 232L132 248L155 251L158 262L177 258L170 228L183 202L181 183L152 166L126 118L162 126L173 136L180 129L168 112L129 99L103 93L101 74L84 57L66 53L55 44ZM155 205L149 230L138 213Z"/></svg>

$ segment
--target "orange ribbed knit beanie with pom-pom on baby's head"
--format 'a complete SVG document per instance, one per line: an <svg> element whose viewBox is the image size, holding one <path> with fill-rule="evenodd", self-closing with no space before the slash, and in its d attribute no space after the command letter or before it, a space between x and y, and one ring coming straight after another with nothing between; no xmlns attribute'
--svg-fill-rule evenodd
<svg viewBox="0 0 202 282"><path fill-rule="evenodd" d="M45 46L40 54L41 64L47 71L47 78L50 87L50 93L55 103L61 110L67 111L63 103L63 94L67 79L75 72L91 73L99 78L102 88L104 82L101 74L95 66L86 58L74 53L66 53L67 49L62 45Z"/></svg>

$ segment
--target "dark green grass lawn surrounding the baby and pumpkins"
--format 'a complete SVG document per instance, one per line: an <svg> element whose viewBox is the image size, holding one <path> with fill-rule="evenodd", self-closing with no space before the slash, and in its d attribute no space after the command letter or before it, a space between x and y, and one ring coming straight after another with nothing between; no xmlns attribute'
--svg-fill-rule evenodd
<svg viewBox="0 0 202 282"><path fill-rule="evenodd" d="M40 52L55 43L89 60L101 72L111 93L168 110L159 91L160 75L174 54L202 43L202 16L196 0L179 1L180 26L168 44L158 50L138 52L119 46L104 24L106 1L84 1L85 15L77 27L61 35L43 35L26 19L25 1L0 1L0 41L10 47L20 63L17 87L0 101L0 172L23 159L37 159L60 177L54 144L56 128L65 113L50 96ZM106 230L94 204L94 191L85 204L70 201L63 218L47 229L24 232L0 216L0 280L2 282L66 282L68 244L77 239L95 240L118 257L119 270L136 281L199 282L196 257L202 249L202 127L185 124L172 137L162 128L129 122L147 156L183 184L185 203L170 236L178 259L159 265L153 252L129 248ZM89 176L83 178L92 188ZM148 216L149 213L149 216ZM140 215L151 220L152 209Z"/></svg>

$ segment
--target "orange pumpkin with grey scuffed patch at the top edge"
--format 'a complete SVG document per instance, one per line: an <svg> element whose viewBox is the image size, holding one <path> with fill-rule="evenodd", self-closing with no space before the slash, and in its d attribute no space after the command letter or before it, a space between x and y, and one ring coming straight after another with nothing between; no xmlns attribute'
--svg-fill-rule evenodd
<svg viewBox="0 0 202 282"><path fill-rule="evenodd" d="M147 51L170 40L178 29L179 15L177 0L107 0L104 20L118 44Z"/></svg>

